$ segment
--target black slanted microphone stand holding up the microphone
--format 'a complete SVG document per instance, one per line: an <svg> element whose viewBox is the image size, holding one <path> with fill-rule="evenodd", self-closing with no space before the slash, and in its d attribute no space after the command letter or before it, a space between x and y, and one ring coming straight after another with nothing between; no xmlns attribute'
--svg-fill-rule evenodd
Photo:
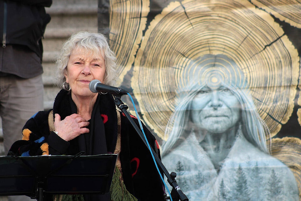
<svg viewBox="0 0 301 201"><path fill-rule="evenodd" d="M136 132L138 133L138 135L140 136L140 138L142 139L142 141L144 142L144 144L147 146L147 142L144 138L143 133L141 132L140 128L137 126L137 124L134 122L134 120L132 119L132 117L130 117L127 109L129 108L127 105L124 105L124 103L122 102L121 95L115 95L114 94L114 102L116 104L116 106L119 108L119 110L121 110L125 116L128 118L129 122L132 124L132 126L135 128ZM182 192L181 188L178 186L175 177L177 176L177 174L175 172L172 172L171 174L168 173L168 171L166 170L165 166L163 165L163 163L161 162L161 160L159 159L159 157L157 156L156 152L154 151L154 149L152 149L150 147L150 151L153 153L154 158L156 160L157 165L161 168L161 170L163 171L163 173L166 175L167 177L167 182L172 186L172 192L171 192L171 196L172 196L172 200L173 201L188 201L187 196ZM165 198L170 199L170 197L166 197Z"/></svg>

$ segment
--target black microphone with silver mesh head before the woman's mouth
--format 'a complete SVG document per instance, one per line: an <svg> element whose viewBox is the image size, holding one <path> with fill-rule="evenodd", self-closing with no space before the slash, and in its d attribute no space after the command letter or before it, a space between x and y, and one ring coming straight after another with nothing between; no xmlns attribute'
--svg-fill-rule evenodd
<svg viewBox="0 0 301 201"><path fill-rule="evenodd" d="M108 92L112 95L125 95L128 93L126 90L121 88L103 84L98 79L93 79L89 84L89 88L93 93Z"/></svg>

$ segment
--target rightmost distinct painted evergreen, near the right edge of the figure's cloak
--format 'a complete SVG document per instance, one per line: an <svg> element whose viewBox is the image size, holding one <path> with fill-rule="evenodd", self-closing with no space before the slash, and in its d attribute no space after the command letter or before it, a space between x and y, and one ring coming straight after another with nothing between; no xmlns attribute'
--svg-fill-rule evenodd
<svg viewBox="0 0 301 201"><path fill-rule="evenodd" d="M281 189L282 184L281 181L278 179L274 169L271 171L270 178L267 182L267 201L273 201L273 200L281 200Z"/></svg>

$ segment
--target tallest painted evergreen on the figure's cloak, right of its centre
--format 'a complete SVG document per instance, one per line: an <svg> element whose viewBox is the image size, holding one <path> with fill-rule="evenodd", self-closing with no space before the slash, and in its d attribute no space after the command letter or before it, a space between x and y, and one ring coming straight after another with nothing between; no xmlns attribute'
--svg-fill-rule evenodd
<svg viewBox="0 0 301 201"><path fill-rule="evenodd" d="M233 193L233 200L235 201L251 200L246 175L240 165L236 171L235 189Z"/></svg>

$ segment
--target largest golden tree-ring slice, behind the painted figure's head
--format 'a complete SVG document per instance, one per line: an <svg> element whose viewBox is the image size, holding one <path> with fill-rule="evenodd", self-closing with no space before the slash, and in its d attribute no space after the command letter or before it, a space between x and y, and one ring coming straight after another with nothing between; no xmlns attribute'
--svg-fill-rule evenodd
<svg viewBox="0 0 301 201"><path fill-rule="evenodd" d="M173 2L150 22L131 79L147 125L163 138L182 86L195 76L210 79L201 71L204 55L235 63L223 62L231 70L215 75L245 80L272 135L279 132L293 111L298 53L269 14L239 0Z"/></svg>

